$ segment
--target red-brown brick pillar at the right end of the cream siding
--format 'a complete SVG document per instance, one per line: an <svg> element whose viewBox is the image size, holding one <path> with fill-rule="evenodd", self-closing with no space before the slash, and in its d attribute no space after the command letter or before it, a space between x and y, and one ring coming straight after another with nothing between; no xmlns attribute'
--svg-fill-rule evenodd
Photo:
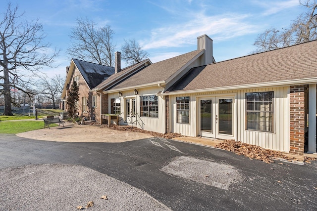
<svg viewBox="0 0 317 211"><path fill-rule="evenodd" d="M305 86L290 86L290 149L304 155L305 142Z"/></svg>

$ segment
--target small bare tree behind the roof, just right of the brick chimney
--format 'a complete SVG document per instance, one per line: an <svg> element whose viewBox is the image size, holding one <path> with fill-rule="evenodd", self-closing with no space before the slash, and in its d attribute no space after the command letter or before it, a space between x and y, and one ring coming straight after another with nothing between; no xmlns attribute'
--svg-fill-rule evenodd
<svg viewBox="0 0 317 211"><path fill-rule="evenodd" d="M144 51L135 39L129 41L124 40L121 51L121 58L128 64L139 63L149 56L149 53Z"/></svg>

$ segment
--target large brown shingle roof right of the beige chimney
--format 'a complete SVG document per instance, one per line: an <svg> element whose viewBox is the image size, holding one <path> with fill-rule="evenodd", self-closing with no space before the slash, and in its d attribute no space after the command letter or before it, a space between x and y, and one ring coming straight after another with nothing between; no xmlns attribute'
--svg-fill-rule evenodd
<svg viewBox="0 0 317 211"><path fill-rule="evenodd" d="M317 41L192 68L167 92L317 77Z"/></svg>

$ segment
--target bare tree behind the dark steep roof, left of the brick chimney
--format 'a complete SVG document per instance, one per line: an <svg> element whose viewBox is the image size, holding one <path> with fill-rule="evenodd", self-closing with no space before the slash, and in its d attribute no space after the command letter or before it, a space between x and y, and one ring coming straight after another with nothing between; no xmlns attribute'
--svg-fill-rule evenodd
<svg viewBox="0 0 317 211"><path fill-rule="evenodd" d="M72 28L70 34L71 46L67 53L77 59L111 67L115 48L113 34L110 26L98 28L91 20L77 18L77 26Z"/></svg>

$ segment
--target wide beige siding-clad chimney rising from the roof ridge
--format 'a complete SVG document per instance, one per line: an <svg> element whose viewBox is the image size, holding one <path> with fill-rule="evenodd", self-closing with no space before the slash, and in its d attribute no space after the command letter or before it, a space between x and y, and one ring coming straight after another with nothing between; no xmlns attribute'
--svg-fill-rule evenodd
<svg viewBox="0 0 317 211"><path fill-rule="evenodd" d="M197 38L197 49L205 49L204 60L202 65L211 64L213 62L212 56L212 40L207 35L202 35Z"/></svg>

